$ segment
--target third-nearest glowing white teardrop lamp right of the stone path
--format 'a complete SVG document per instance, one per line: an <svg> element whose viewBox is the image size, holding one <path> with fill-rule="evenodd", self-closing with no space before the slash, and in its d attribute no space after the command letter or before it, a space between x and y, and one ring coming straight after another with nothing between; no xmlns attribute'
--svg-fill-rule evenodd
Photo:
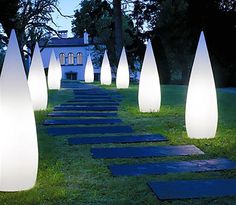
<svg viewBox="0 0 236 205"><path fill-rule="evenodd" d="M116 87L119 89L129 87L129 65L125 53L125 48L123 48L122 50L116 73Z"/></svg>

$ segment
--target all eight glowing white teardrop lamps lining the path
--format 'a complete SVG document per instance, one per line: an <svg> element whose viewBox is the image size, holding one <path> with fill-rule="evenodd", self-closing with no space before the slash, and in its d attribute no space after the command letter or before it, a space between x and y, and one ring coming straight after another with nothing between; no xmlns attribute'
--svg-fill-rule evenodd
<svg viewBox="0 0 236 205"><path fill-rule="evenodd" d="M61 67L52 52L48 88L60 89ZM85 82L93 82L90 56ZM101 84L110 85L111 68L105 52ZM117 88L129 87L129 68L123 49L116 77ZM47 82L40 50L36 44L28 82L16 38L11 32L0 77L0 191L28 190L35 185L38 172L38 143L34 110L47 108ZM139 81L138 103L141 112L158 112L161 89L158 69L148 42ZM203 32L200 35L188 85L185 123L190 138L213 138L218 121L217 97L211 63Z"/></svg>

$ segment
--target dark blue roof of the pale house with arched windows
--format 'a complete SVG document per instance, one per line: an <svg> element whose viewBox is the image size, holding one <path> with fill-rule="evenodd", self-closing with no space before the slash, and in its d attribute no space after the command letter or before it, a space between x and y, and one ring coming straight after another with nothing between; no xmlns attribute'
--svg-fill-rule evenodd
<svg viewBox="0 0 236 205"><path fill-rule="evenodd" d="M89 38L89 45L91 44L100 44L98 39L94 38L93 42L91 38ZM78 47L78 46L87 46L88 44L84 44L84 38L51 38L48 42L47 39L42 39L39 41L40 47Z"/></svg>

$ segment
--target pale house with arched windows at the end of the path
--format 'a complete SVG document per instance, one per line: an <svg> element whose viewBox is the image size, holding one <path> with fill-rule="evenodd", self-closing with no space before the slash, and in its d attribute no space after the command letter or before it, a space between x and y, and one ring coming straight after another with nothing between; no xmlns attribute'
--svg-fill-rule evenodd
<svg viewBox="0 0 236 205"><path fill-rule="evenodd" d="M59 37L52 37L48 42L41 40L39 46L44 49L41 52L44 68L48 68L52 49L60 60L62 67L62 79L84 80L84 71L87 57L90 54L93 65L95 80L100 78L100 61L105 46L99 44L96 39L92 40L85 31L83 38L67 37L67 30L59 31ZM46 45L46 47L45 47Z"/></svg>

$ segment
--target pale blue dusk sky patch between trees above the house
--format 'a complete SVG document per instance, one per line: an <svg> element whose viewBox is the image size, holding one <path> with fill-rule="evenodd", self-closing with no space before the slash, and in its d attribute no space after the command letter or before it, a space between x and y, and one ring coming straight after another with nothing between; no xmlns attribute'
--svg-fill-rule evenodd
<svg viewBox="0 0 236 205"><path fill-rule="evenodd" d="M74 15L74 10L79 8L80 0L59 0L58 8L64 15ZM71 37L71 18L62 17L58 12L54 12L53 19L58 25L57 30L68 30Z"/></svg>

